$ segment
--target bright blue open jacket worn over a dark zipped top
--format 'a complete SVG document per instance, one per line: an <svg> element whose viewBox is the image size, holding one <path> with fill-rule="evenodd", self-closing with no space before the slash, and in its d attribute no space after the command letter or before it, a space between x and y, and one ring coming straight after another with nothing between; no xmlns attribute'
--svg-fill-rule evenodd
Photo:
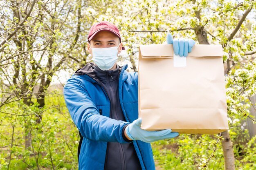
<svg viewBox="0 0 256 170"><path fill-rule="evenodd" d="M87 74L72 75L64 86L64 98L74 124L84 137L79 170L103 170L107 142L127 143L124 126L138 118L138 73L121 68L119 100L126 121L110 119L109 98L97 80ZM101 111L101 114L99 112ZM155 170L150 144L133 141L142 170Z"/></svg>

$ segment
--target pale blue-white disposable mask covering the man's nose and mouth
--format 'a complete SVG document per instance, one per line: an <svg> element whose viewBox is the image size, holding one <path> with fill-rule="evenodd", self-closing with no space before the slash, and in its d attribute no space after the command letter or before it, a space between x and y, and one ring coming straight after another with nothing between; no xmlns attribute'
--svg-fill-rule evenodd
<svg viewBox="0 0 256 170"><path fill-rule="evenodd" d="M92 49L92 60L101 70L109 70L117 62L119 45L110 48L92 48L90 46Z"/></svg>

